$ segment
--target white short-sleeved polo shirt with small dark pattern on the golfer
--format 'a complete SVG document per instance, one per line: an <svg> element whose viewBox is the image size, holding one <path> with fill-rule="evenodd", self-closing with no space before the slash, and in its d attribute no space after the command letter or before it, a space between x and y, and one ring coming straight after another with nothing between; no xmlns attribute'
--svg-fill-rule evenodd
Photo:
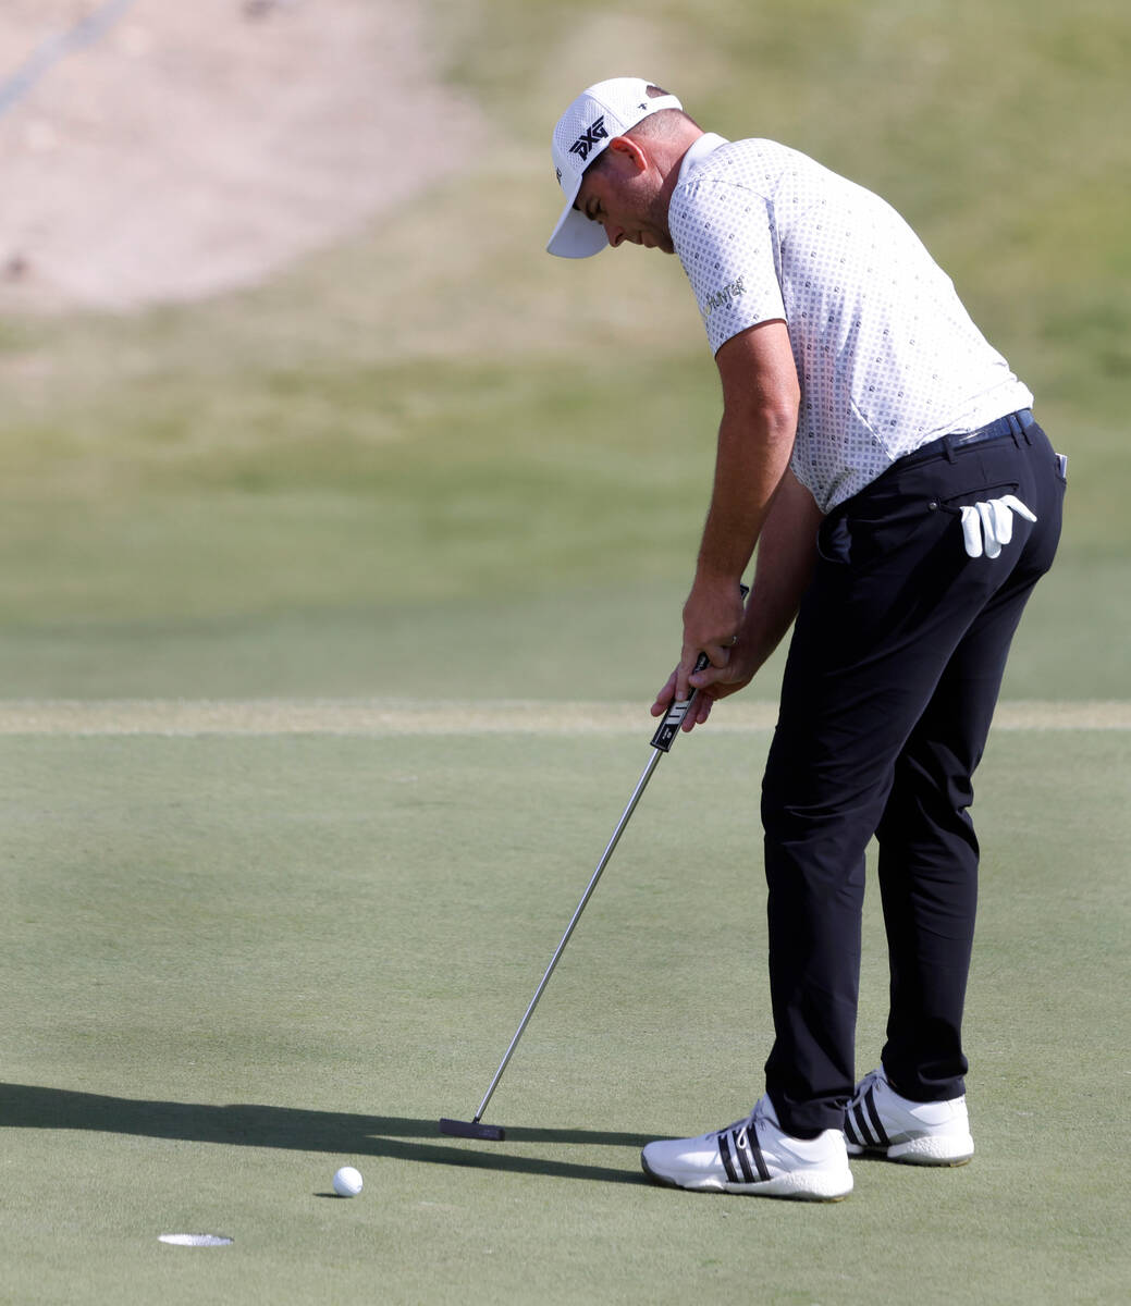
<svg viewBox="0 0 1131 1306"><path fill-rule="evenodd" d="M922 444L1033 402L895 209L797 150L700 137L669 223L712 350L785 320L793 470L824 512Z"/></svg>

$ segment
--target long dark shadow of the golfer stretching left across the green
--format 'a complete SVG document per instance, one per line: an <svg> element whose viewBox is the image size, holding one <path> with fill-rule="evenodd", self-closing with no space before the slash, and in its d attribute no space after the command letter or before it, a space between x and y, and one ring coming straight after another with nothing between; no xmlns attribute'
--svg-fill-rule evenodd
<svg viewBox="0 0 1131 1306"><path fill-rule="evenodd" d="M509 1170L560 1179L597 1179L603 1183L646 1183L637 1170L515 1156L513 1143L554 1143L582 1147L631 1147L650 1143L654 1135L615 1134L601 1130L507 1127L507 1141L481 1151L470 1144L419 1141L440 1136L439 1119L397 1115L350 1115L300 1107L195 1102L148 1102L65 1088L0 1084L0 1128L93 1130L187 1143L227 1147L276 1147L295 1152L330 1152L341 1156L392 1157L482 1170Z"/></svg>

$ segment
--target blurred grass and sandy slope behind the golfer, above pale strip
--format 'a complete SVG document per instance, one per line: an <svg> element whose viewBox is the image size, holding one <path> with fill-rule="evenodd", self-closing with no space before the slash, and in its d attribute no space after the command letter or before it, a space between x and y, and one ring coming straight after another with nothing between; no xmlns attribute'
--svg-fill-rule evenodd
<svg viewBox="0 0 1131 1306"><path fill-rule="evenodd" d="M650 701L714 366L677 260L543 252L639 73L908 217L1070 456L1004 692L1128 697L1128 67L1123 0L5 0L0 696Z"/></svg>

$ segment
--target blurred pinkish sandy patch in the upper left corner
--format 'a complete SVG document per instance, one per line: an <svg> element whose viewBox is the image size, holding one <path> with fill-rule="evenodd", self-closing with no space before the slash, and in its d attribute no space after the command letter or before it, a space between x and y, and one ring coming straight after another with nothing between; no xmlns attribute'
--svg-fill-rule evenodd
<svg viewBox="0 0 1131 1306"><path fill-rule="evenodd" d="M5 0L0 312L253 285L479 136L392 0Z"/></svg>

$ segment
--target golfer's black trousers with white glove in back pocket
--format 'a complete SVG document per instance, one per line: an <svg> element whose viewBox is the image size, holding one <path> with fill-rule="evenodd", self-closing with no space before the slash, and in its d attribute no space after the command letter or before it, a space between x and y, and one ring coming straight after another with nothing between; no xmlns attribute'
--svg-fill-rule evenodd
<svg viewBox="0 0 1131 1306"><path fill-rule="evenodd" d="M883 1064L905 1097L964 1092L977 901L966 808L1021 610L1053 562L1064 481L1040 426L909 454L821 522L763 782L774 1045L789 1132L841 1128L854 1088L865 849L891 965ZM1015 494L1000 556L959 508Z"/></svg>

